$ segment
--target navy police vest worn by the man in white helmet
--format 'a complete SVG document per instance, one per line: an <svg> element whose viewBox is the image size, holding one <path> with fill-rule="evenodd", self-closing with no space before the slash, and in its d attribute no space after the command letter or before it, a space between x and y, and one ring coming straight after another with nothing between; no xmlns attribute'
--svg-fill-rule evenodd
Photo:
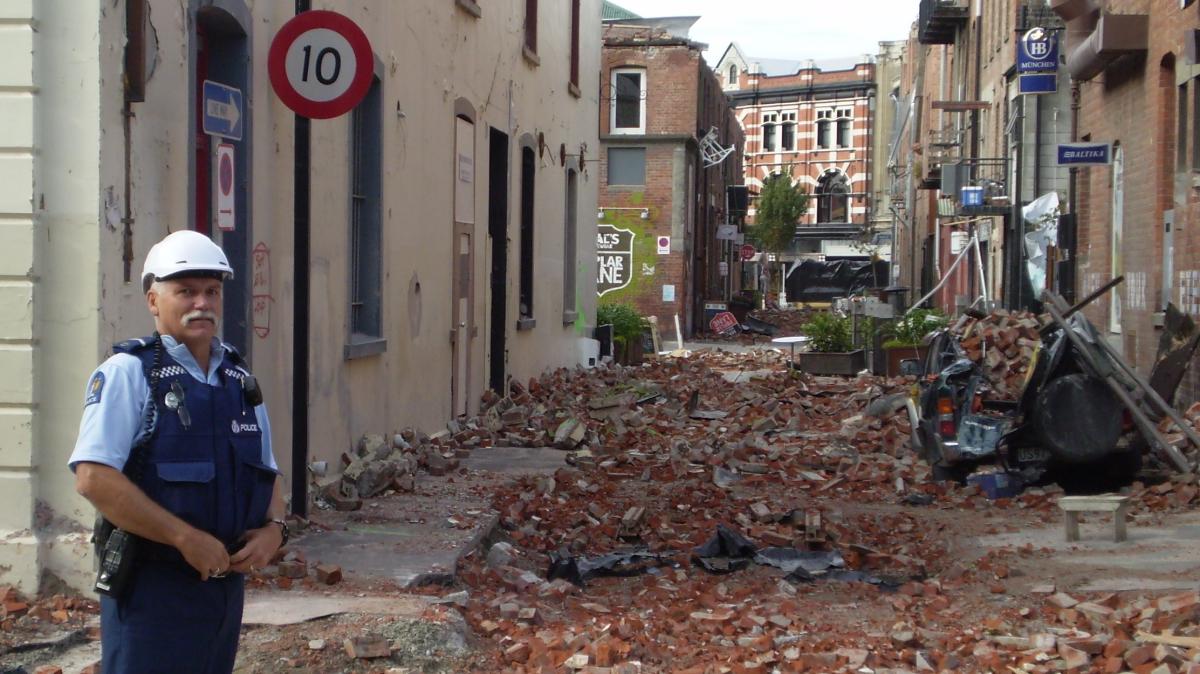
<svg viewBox="0 0 1200 674"><path fill-rule="evenodd" d="M130 339L113 351L139 359L149 377L157 339ZM224 349L221 384L211 386L197 381L163 347L151 392L157 420L149 444L140 450L143 468L136 481L155 503L230 544L266 522L276 473L263 463L263 432L242 395L247 372L241 356L229 345ZM191 415L187 427L166 402L174 383L184 390L180 407Z"/></svg>

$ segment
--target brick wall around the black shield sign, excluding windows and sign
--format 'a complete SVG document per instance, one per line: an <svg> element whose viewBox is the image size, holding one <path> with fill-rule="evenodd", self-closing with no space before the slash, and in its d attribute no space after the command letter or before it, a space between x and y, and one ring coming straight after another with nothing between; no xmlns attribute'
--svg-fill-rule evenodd
<svg viewBox="0 0 1200 674"><path fill-rule="evenodd" d="M726 222L725 189L727 185L740 183L743 133L733 118L728 102L715 74L704 65L700 46L688 41L667 40L644 29L620 29L606 26L602 55L600 133L610 133L610 104L612 68L644 67L647 78L646 137L622 134L604 142L598 167L601 207L613 210L612 216L601 222L629 227L640 233L635 246L635 281L624 291L605 295L601 301L632 303L644 315L656 315L664 338L673 339L674 317L678 315L685 335L691 335L701 325L702 301L725 291L719 263L725 258L725 245L715 240L716 225ZM652 41L649 44L631 44L630 41ZM706 169L700 160L697 140L709 127L716 127L722 146L734 145L731 156ZM655 137L674 136L661 139ZM607 182L608 167L606 148L644 146L646 185L614 186ZM677 167L677 152L683 149L684 164ZM691 239L680 241L677 234L686 236L686 194L676 194L677 185L686 189L686 164L695 167L690 191L695 195ZM677 182L677 170L679 181ZM676 203L683 212L676 212ZM648 209L648 217L640 217L641 209ZM673 231L672 223L682 223ZM655 239L673 236L672 253L659 255ZM654 267L653 276L643 275L643 265ZM730 275L737 278L738 265L731 265ZM662 285L674 285L676 299L662 301Z"/></svg>

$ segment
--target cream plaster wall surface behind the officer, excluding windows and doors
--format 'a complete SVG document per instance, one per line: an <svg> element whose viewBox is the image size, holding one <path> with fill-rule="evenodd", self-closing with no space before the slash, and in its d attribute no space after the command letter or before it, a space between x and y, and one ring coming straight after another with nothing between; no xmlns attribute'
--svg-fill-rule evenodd
<svg viewBox="0 0 1200 674"><path fill-rule="evenodd" d="M152 71L145 102L132 106L130 133L127 283L120 222L124 2L0 4L0 371L6 373L0 380L0 584L35 590L47 570L90 588L86 537L94 513L74 494L66 461L89 373L113 342L152 330L137 283L145 252L168 231L190 227L194 5L149 2ZM475 18L454 0L314 2L364 26L383 65L388 347L377 356L343 360L349 119L313 120L310 459L332 463L364 433L404 426L436 431L450 416L452 140L460 98L476 116L472 408L487 381L492 293L506 299L512 377L526 380L576 362L577 341L595 305L592 213L599 176L593 163L580 175L576 287L583 318L564 325L566 169L558 148L565 144L577 154L586 144L590 157L599 148L600 1L582 2L578 97L568 92L569 4L540 4L540 64L522 54L523 7L516 5L484 4ZM276 456L290 477L294 118L271 91L266 53L292 12L289 2L246 0L244 6L252 44L250 246L270 249L272 300L270 332L252 337L252 365L271 410ZM488 282L490 126L510 136L510 282L502 288ZM536 170L536 327L517 332L518 152L526 133L541 133L546 152ZM250 277L250 270L236 271L240 279Z"/></svg>

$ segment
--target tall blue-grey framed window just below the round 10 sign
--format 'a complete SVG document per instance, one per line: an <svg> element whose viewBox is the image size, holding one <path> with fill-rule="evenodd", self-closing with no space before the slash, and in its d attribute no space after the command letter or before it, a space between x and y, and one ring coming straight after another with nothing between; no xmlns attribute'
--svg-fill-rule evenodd
<svg viewBox="0 0 1200 674"><path fill-rule="evenodd" d="M374 78L350 122L350 342L378 339L383 97ZM377 351L376 351L377 353Z"/></svg>

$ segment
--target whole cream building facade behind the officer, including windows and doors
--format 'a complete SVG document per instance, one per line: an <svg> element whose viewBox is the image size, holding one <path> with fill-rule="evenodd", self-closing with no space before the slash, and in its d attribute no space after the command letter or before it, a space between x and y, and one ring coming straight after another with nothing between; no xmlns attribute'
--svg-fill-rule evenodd
<svg viewBox="0 0 1200 674"><path fill-rule="evenodd" d="M599 176L584 160L599 146L600 1L312 5L361 26L374 72L353 112L308 124L306 144L266 67L290 2L0 7L0 583L35 591L53 573L90 588L92 508L66 461L89 373L154 329L138 276L168 231L204 231L230 254L224 338L263 384L296 511L307 462L340 465L364 433L434 431L490 386L580 362L595 307ZM205 80L241 92L240 138L203 132Z"/></svg>

